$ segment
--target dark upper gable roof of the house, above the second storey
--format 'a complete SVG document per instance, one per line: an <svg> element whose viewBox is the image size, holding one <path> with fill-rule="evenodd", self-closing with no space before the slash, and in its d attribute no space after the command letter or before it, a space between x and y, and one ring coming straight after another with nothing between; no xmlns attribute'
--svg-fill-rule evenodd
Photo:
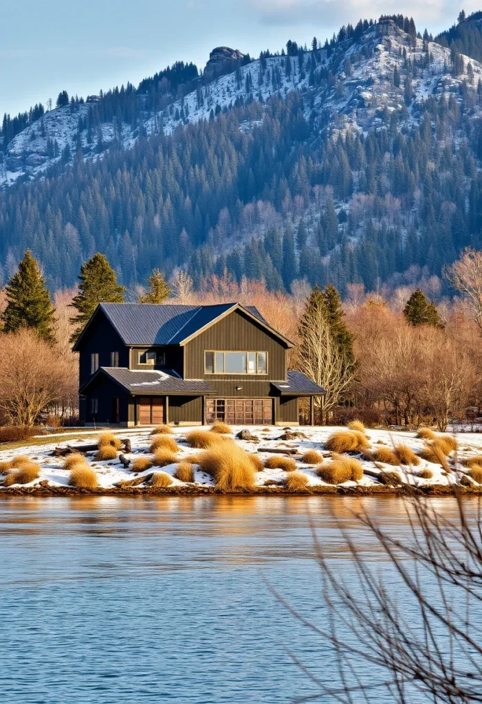
<svg viewBox="0 0 482 704"><path fill-rule="evenodd" d="M103 313L127 346L186 344L203 330L234 310L241 310L258 325L278 337L286 347L293 343L272 328L255 306L219 303L214 306L177 306L169 303L99 303L77 339L74 351L96 315Z"/></svg>

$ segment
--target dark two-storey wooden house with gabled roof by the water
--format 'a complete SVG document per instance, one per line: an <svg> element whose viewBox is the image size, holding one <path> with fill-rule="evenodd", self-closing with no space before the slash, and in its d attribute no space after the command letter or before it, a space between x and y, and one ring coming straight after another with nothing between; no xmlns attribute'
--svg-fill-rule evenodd
<svg viewBox="0 0 482 704"><path fill-rule="evenodd" d="M101 303L74 347L81 420L294 425L299 398L324 390L288 371L291 347L252 306Z"/></svg>

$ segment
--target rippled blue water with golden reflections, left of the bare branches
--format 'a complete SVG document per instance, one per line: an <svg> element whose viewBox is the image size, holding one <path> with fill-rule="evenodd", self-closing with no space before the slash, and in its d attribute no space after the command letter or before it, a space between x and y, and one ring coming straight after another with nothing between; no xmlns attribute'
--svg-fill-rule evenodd
<svg viewBox="0 0 482 704"><path fill-rule="evenodd" d="M333 655L267 582L322 618L307 515L350 579L337 520L355 527L351 512L362 507L399 535L408 530L397 498L0 501L1 702L281 704L310 695L286 648L318 674ZM390 569L368 534L360 544Z"/></svg>

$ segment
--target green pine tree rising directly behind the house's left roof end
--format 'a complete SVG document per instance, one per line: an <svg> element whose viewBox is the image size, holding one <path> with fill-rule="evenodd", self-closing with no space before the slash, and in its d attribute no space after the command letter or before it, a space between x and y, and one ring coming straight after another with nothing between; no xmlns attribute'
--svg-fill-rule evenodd
<svg viewBox="0 0 482 704"><path fill-rule="evenodd" d="M72 342L77 340L99 303L124 303L125 288L118 285L115 271L103 254L97 252L82 264L79 280L79 293L72 300L72 306L78 311L78 315L70 319L77 325Z"/></svg>

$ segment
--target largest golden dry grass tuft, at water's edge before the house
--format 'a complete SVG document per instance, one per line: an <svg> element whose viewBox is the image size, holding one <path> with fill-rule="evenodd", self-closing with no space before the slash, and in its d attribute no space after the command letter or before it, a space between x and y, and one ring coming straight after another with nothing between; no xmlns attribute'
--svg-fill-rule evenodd
<svg viewBox="0 0 482 704"><path fill-rule="evenodd" d="M255 485L253 462L238 445L211 448L199 458L199 465L215 479L218 489L253 489Z"/></svg>

